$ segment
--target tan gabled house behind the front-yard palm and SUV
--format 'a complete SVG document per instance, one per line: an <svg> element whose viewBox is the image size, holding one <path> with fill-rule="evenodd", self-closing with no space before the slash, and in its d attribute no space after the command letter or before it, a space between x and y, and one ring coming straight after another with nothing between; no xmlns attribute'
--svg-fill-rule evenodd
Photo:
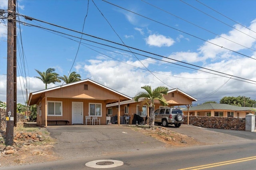
<svg viewBox="0 0 256 170"><path fill-rule="evenodd" d="M185 92L182 92L178 88L172 89L168 91L167 95L164 95L164 98L168 102L168 106L166 107L172 107L172 106L189 106L192 104L192 102L197 101L196 98L193 98L192 96L186 94ZM154 101L155 104L155 110L159 109L161 106L158 100ZM119 107L120 105L120 111ZM125 123L125 118L128 116L130 117L129 124L132 124L132 119L134 117L134 114L140 115L141 117L145 117L149 113L149 109L147 105L144 105L142 107L142 111L139 110L140 103L135 102L134 99L132 100L127 100L124 102L118 103L113 103L113 104L107 104L107 115L112 117L115 115L118 115L118 112L120 112L120 124Z"/></svg>

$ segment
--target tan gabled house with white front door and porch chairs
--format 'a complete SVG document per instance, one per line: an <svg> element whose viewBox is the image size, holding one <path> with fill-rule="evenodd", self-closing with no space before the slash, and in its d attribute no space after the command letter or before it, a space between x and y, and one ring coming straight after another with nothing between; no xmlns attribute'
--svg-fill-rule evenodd
<svg viewBox="0 0 256 170"><path fill-rule="evenodd" d="M37 106L37 123L40 125L86 124L85 116L96 116L100 124L106 124L106 105L131 100L132 98L116 92L90 79L81 80L32 92L28 105Z"/></svg>

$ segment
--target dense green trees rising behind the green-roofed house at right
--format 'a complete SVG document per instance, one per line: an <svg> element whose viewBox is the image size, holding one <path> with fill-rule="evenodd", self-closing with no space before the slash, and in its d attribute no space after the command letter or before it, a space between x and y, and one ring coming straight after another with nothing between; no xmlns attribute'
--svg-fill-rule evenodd
<svg viewBox="0 0 256 170"><path fill-rule="evenodd" d="M255 107L256 101L251 100L246 96L238 96L238 97L224 97L220 100L221 104L230 104L234 106L243 106L243 107Z"/></svg>

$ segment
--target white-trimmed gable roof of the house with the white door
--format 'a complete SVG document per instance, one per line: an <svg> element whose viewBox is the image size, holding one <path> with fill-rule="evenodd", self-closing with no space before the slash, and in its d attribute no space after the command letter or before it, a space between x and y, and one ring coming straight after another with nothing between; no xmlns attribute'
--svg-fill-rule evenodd
<svg viewBox="0 0 256 170"><path fill-rule="evenodd" d="M102 84L99 84L97 82L94 82L93 80L90 80L90 79L85 79L85 80L81 80L81 81L77 81L77 82L72 82L72 83L69 83L69 84L64 84L64 85L61 85L61 86L56 86L56 87L53 87L53 88L48 88L48 89L45 89L45 90L40 90L40 91L37 91L37 92L32 92L29 94L29 99L28 99L28 106L30 105L33 105L33 104L36 104L37 101L41 98L41 96L45 93L45 92L49 92L51 90L56 90L56 89L59 89L59 88L64 88L64 87L68 87L68 86L73 86L75 84L79 84L79 83L83 83L83 82L91 82L93 84L96 84L102 88L105 88L107 90L110 90L111 92L114 92L124 98L126 98L127 100L131 100L132 98L130 98L129 96L126 96L120 92L117 92L115 90L112 90L111 88L108 88L106 86L103 86Z"/></svg>

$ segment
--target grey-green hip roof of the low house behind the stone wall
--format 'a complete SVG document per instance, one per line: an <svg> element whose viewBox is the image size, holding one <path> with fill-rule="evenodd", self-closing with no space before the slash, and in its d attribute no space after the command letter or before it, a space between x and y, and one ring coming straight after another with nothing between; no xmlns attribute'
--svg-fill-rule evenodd
<svg viewBox="0 0 256 170"><path fill-rule="evenodd" d="M207 103L198 106L190 107L190 111L194 110L232 110L232 111L247 111L252 107L240 107L229 104Z"/></svg>

